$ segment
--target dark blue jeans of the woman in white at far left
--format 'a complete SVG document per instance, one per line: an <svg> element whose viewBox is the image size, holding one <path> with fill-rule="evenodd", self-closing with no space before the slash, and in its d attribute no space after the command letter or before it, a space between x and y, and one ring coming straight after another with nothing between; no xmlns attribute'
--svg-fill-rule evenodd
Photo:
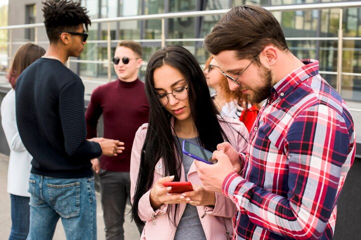
<svg viewBox="0 0 361 240"><path fill-rule="evenodd" d="M12 229L9 240L25 240L29 233L30 206L28 196L10 194Z"/></svg>

